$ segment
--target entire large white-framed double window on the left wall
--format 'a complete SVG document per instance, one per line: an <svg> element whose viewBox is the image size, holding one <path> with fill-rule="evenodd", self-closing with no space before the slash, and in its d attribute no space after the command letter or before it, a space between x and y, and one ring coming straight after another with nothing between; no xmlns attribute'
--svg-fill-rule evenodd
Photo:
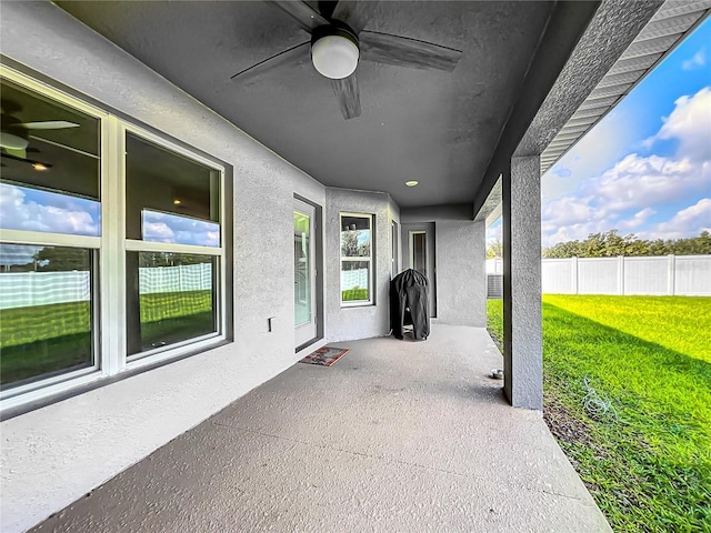
<svg viewBox="0 0 711 533"><path fill-rule="evenodd" d="M223 341L224 168L1 74L1 409Z"/></svg>

